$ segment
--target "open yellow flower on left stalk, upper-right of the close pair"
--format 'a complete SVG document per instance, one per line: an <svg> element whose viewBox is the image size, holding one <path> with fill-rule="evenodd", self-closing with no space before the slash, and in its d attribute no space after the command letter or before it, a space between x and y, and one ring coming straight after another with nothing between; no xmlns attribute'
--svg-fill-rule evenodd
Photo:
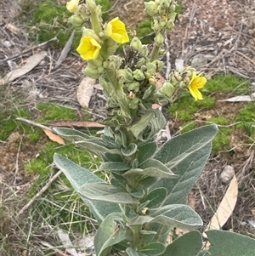
<svg viewBox="0 0 255 256"><path fill-rule="evenodd" d="M106 31L108 36L116 43L127 43L129 41L125 24L119 20L118 17L114 18L107 24Z"/></svg>

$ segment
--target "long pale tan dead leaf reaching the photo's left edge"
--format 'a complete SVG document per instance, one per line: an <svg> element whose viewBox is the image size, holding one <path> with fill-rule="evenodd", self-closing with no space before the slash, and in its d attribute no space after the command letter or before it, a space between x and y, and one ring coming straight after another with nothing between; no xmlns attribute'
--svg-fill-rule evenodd
<svg viewBox="0 0 255 256"><path fill-rule="evenodd" d="M13 81L18 77L24 76L26 73L31 71L35 66L37 66L44 59L45 56L47 56L47 52L45 51L32 55L26 60L25 65L20 66L20 68L14 71L8 72L8 74L5 77L3 77L2 80L0 80L0 84L5 84L7 82Z"/></svg>

